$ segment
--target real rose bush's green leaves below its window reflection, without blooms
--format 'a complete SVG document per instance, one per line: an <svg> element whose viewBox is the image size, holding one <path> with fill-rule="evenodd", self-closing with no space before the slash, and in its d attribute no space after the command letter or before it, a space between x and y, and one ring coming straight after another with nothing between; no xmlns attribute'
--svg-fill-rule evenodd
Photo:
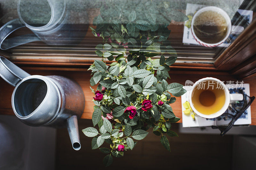
<svg viewBox="0 0 256 170"><path fill-rule="evenodd" d="M103 163L109 166L114 157L121 157L124 152L118 151L118 145L124 146L124 151L132 150L137 140L145 138L147 130L153 128L153 133L161 136L160 142L170 151L167 137L178 136L171 130L171 123L178 122L170 104L176 101L186 92L183 85L179 83L167 83L170 78L168 71L177 57L151 59L158 53L134 49L129 51L125 57L123 54L110 51L110 45L104 44L105 51L97 50L96 54L102 56L102 60L95 60L89 70L92 70L91 85L96 85L101 91L105 87L103 98L100 101L93 100L94 112L92 114L93 126L98 125L99 131L93 127L83 129L83 132L92 139L92 149L99 148L104 141L110 144L110 149L100 148L100 151L108 154ZM115 62L110 66L104 63L108 58ZM110 58L111 57L111 58ZM155 76L156 73L156 76ZM92 92L95 90L91 88ZM144 100L151 100L152 108L147 111L141 109ZM162 101L161 105L158 101ZM136 107L137 114L132 119L129 112L124 113L127 107ZM107 115L114 117L112 123L107 120ZM102 116L105 117L102 119ZM135 141L134 141L135 140ZM112 155L112 156L111 156Z"/></svg>

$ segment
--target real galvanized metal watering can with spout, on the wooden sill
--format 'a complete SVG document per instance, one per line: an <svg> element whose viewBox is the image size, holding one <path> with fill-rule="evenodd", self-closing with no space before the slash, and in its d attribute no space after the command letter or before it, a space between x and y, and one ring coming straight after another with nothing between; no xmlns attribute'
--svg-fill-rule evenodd
<svg viewBox="0 0 256 170"><path fill-rule="evenodd" d="M74 81L62 76L31 76L0 56L0 76L15 86L12 109L29 126L67 127L75 150L81 148L77 118L84 111L84 93Z"/></svg>

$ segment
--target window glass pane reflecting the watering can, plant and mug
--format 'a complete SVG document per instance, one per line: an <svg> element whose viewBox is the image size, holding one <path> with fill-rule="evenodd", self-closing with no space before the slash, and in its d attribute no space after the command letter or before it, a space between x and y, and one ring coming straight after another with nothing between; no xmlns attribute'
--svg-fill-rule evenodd
<svg viewBox="0 0 256 170"><path fill-rule="evenodd" d="M177 62L212 63L252 22L255 4L249 0L0 0L1 49L20 59L93 60L101 58L95 47L109 44L105 49L126 54L142 48L177 55Z"/></svg>

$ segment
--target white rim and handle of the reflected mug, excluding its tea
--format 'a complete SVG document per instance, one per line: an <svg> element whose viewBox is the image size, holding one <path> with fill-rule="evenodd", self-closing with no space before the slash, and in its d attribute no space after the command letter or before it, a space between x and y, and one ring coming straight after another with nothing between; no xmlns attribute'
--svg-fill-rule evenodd
<svg viewBox="0 0 256 170"><path fill-rule="evenodd" d="M195 34L194 32L194 22L195 22L195 18L201 14L202 12L204 11L214 11L214 12L218 12L219 14L221 14L225 19L226 19L226 22L227 22L227 25L228 25L228 30L227 30L227 33L226 33L226 36L219 42L217 43L213 43L213 44L210 44L210 43L206 43L204 41L201 41ZM194 39L196 40L196 42L198 42L200 45L204 46L204 47L215 47L215 46L218 46L220 45L221 43L223 43L229 36L229 34L231 32L234 32L234 33L241 33L243 30L244 30L244 27L242 26L232 26L231 25L231 20L228 16L228 14L223 11L222 9L218 8L218 7L215 7L215 6L207 6L207 7L204 7L204 8L201 8L200 10L198 10L195 15L193 16L192 18L192 21L191 21L191 32L192 32L192 35L194 37Z"/></svg>

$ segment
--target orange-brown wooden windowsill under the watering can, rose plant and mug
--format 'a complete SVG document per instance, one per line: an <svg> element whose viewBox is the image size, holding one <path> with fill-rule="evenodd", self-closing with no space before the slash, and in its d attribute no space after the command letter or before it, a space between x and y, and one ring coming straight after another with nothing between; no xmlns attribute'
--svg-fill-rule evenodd
<svg viewBox="0 0 256 170"><path fill-rule="evenodd" d="M89 86L90 86L90 78L91 72L87 71L87 68L80 68L80 69L70 69L70 68L40 68L40 67L21 67L25 71L27 71L31 75L60 75L65 76L67 78L71 78L75 80L79 85L81 85L84 96L85 96L85 108L84 113L82 115L82 119L92 119L92 112L93 112L93 102L92 94ZM177 82L180 84L185 84L186 80L191 80L195 82L196 80L204 77L215 77L220 79L221 81L228 81L233 80L236 81L234 77L229 75L227 72L221 71L211 71L211 70L182 70L171 68L170 77L171 79L168 82ZM255 81L256 77L244 80L244 83L250 84L250 95L256 96L256 84ZM0 114L6 115L14 115L12 111L11 105L11 98L12 98L12 91L14 87L6 83L2 78L0 79L0 87L1 87L1 95L0 95ZM93 86L96 89L96 86ZM171 104L174 114L177 117L180 117L182 122L182 111L181 111L181 97L177 97L175 103ZM256 102L254 101L251 105L251 114L252 114L252 125L256 125Z"/></svg>

